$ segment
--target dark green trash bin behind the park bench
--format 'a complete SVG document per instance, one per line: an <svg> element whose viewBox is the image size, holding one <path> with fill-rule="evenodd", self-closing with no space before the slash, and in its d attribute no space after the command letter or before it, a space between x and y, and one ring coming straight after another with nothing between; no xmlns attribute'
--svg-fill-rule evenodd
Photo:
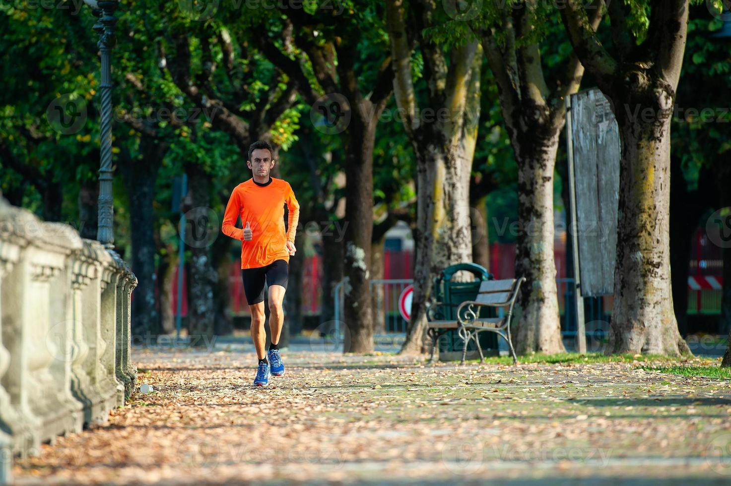
<svg viewBox="0 0 731 486"><path fill-rule="evenodd" d="M458 282L452 281L455 274L465 270L474 275L473 281ZM465 300L475 300L477 292L480 291L480 284L485 280L493 280L493 276L485 267L476 263L458 263L445 268L434 278L434 300L439 303L433 311L437 319L457 319L457 308ZM495 317L495 309L480 307L480 317ZM495 333L479 333L480 346L485 356L498 356L498 336ZM452 361L462 359L463 340L457 330L447 330L436 341L439 349L440 361ZM467 344L466 359L479 358L477 346L474 341Z"/></svg>

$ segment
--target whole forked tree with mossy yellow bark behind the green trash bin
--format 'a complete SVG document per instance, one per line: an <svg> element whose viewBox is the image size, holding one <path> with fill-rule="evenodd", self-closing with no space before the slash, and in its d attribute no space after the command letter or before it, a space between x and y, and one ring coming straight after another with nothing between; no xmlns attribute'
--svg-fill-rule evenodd
<svg viewBox="0 0 731 486"><path fill-rule="evenodd" d="M412 316L401 352L425 352L426 303L440 270L471 261L469 176L480 118L482 49L475 40L442 47L425 29L444 22L433 0L387 1L394 93L416 160L417 224ZM414 73L418 46L423 70ZM424 100L414 74L423 75Z"/></svg>

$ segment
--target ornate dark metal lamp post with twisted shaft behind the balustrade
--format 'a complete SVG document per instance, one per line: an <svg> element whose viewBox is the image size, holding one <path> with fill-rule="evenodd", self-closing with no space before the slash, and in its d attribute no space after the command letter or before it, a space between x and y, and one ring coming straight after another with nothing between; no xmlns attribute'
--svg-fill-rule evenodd
<svg viewBox="0 0 731 486"><path fill-rule="evenodd" d="M114 248L113 196L112 196L112 49L117 42L114 26L117 18L114 11L118 0L84 0L97 18L94 31L99 34L99 51L102 53L102 96L101 164L99 166L99 225L96 239L106 248Z"/></svg>

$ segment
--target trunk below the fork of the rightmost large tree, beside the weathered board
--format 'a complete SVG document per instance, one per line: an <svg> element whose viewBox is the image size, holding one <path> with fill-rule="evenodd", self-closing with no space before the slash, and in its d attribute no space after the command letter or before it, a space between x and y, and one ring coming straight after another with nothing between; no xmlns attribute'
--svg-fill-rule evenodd
<svg viewBox="0 0 731 486"><path fill-rule="evenodd" d="M670 116L648 123L621 108L616 115L622 143L617 262L605 352L690 354L670 292Z"/></svg>

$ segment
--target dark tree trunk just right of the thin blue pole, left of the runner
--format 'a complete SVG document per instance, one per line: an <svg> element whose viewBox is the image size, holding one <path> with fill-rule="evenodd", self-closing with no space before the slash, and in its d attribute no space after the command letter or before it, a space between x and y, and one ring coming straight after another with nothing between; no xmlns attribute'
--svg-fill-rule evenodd
<svg viewBox="0 0 731 486"><path fill-rule="evenodd" d="M210 208L211 175L196 164L189 165L187 172L191 208ZM186 231L190 228L189 225ZM188 262L190 269L188 329L191 346L209 346L210 349L213 344L213 328L216 320L216 301L213 298L213 289L216 288L218 282L218 273L213 267L210 245L195 245L189 248L191 259Z"/></svg>

